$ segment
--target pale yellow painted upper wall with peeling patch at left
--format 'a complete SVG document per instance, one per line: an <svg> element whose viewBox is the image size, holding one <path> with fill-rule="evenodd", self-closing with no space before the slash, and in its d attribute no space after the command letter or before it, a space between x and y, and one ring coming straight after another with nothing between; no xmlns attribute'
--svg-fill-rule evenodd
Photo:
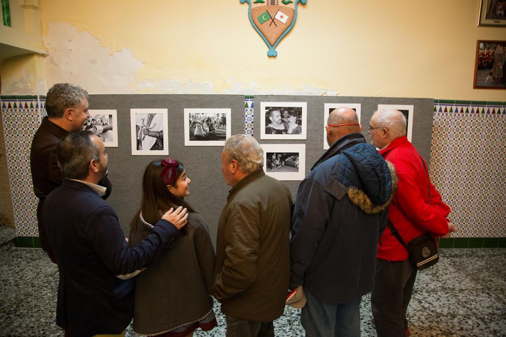
<svg viewBox="0 0 506 337"><path fill-rule="evenodd" d="M275 59L239 0L39 6L48 87L506 100L473 89L476 40L506 39L506 28L477 27L479 0L308 0Z"/></svg>

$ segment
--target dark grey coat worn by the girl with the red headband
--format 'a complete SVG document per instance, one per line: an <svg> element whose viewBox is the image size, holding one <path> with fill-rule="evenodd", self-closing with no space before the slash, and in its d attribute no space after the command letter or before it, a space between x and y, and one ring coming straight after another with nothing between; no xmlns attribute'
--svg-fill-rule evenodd
<svg viewBox="0 0 506 337"><path fill-rule="evenodd" d="M198 213L189 213L186 235L165 248L146 270L136 276L134 331L158 334L198 321L212 308L215 251L209 229ZM130 231L130 245L150 233L140 220Z"/></svg>

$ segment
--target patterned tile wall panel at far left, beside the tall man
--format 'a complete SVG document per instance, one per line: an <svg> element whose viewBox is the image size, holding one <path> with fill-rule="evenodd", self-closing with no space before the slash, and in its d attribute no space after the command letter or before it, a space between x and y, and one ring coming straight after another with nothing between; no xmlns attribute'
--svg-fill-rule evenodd
<svg viewBox="0 0 506 337"><path fill-rule="evenodd" d="M30 172L30 148L40 125L36 96L1 99L7 169L17 236L38 236L36 208Z"/></svg>

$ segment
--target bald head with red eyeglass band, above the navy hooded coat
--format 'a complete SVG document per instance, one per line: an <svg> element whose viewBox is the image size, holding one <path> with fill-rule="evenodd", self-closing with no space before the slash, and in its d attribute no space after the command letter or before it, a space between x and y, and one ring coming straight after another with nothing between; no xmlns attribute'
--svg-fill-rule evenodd
<svg viewBox="0 0 506 337"><path fill-rule="evenodd" d="M340 125L340 124L357 124L357 125ZM327 131L327 143L331 146L336 140L339 138L349 134L360 132L362 130L362 126L358 125L358 116L357 113L348 107L341 107L338 109L334 109L328 115L327 126L325 130ZM340 125L340 126L330 126L330 125Z"/></svg>

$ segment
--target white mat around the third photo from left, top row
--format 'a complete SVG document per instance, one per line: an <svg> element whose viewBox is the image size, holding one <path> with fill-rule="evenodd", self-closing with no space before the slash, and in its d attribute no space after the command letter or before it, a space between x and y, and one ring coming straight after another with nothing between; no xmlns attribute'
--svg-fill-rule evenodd
<svg viewBox="0 0 506 337"><path fill-rule="evenodd" d="M201 109L185 109L184 110L184 122L185 122L185 146L224 146L225 140L231 136L231 124L232 124L232 110L231 109L207 109L207 108L201 108ZM203 137L202 140L190 140L190 115L194 114L204 114L204 115L216 115L221 114L225 116L225 129L217 129L213 132L215 134L212 134L213 136L216 136L216 133L220 133L220 138L223 138L223 140L206 140L206 137ZM225 131L225 134L222 134ZM209 132L210 133L210 132ZM211 136L211 134L210 134ZM214 137L207 137L207 138L214 138Z"/></svg>

